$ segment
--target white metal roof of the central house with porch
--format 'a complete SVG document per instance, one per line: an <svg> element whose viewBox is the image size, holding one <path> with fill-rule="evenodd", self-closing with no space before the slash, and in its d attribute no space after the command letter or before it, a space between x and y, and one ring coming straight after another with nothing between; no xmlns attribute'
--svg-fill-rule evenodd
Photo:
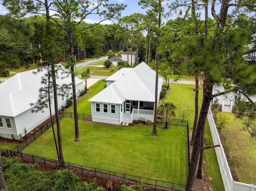
<svg viewBox="0 0 256 191"><path fill-rule="evenodd" d="M120 73L122 74L122 73ZM117 74L117 76L120 76ZM110 78L110 77L109 77ZM106 89L89 99L91 102L106 102L122 104L125 100L137 100L154 102L155 101L155 81L156 72L146 63L142 62L135 68L132 68ZM158 98L160 95L163 78L158 78ZM113 94L119 95L119 99L110 96L110 90L115 91ZM122 96L121 96L122 95ZM110 102L111 100L111 102Z"/></svg>

